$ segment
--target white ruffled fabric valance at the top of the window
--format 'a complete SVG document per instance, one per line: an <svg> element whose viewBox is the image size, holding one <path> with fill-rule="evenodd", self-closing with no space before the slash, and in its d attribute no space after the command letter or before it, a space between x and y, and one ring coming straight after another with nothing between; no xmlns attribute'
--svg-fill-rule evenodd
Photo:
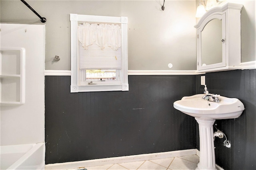
<svg viewBox="0 0 256 170"><path fill-rule="evenodd" d="M84 49L89 45L96 44L101 49L107 44L113 50L121 47L121 27L119 25L83 23L78 26L78 40Z"/></svg>

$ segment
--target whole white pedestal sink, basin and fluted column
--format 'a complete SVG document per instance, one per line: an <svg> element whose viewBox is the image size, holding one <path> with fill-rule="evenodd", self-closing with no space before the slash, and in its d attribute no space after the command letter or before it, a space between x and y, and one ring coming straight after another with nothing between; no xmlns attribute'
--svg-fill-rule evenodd
<svg viewBox="0 0 256 170"><path fill-rule="evenodd" d="M218 96L220 102L202 99L204 94L186 96L174 102L175 109L195 117L199 124L200 160L196 170L216 170L213 141L213 124L216 119L239 117L244 105L236 98Z"/></svg>

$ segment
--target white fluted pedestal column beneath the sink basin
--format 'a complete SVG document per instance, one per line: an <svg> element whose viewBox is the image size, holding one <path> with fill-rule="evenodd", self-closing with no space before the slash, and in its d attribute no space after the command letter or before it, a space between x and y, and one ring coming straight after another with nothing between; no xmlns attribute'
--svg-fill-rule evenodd
<svg viewBox="0 0 256 170"><path fill-rule="evenodd" d="M214 119L195 117L199 124L200 156L196 170L217 170L215 166L215 152L213 141Z"/></svg>

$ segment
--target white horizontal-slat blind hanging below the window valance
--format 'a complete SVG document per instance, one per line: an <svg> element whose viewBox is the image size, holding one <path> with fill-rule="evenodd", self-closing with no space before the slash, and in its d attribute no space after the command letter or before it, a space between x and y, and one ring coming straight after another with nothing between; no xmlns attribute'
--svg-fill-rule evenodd
<svg viewBox="0 0 256 170"><path fill-rule="evenodd" d="M92 44L88 49L80 43L80 70L121 69L121 48L113 50L107 43L104 49Z"/></svg>

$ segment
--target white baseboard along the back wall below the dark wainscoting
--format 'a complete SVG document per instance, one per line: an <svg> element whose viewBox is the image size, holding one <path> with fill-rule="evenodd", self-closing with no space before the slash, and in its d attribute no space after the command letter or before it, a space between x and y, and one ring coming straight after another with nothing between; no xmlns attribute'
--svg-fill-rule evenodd
<svg viewBox="0 0 256 170"><path fill-rule="evenodd" d="M162 158L172 158L177 156L187 156L196 154L196 149L187 149L187 150L176 150L170 152L160 152L160 153L151 153L151 154L139 154L131 156L120 156L114 158L102 158L94 160L83 160L76 162L64 162L56 164L47 164L45 170L65 170L65 169L75 169L78 167L91 167L91 166L100 166L106 164L120 164L126 162L136 162L136 161L145 161L153 159L162 159Z"/></svg>

